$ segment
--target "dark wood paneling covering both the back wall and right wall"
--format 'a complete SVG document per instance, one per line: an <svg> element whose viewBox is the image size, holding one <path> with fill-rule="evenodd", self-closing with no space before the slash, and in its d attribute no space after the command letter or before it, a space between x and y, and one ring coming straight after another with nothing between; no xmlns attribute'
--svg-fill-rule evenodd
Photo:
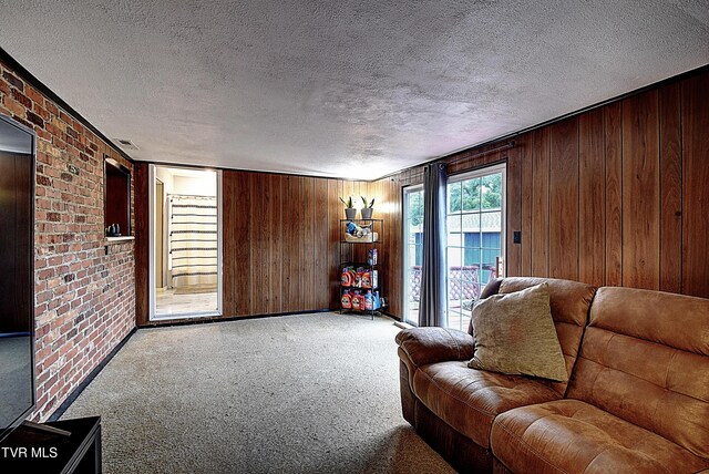
<svg viewBox="0 0 709 474"><path fill-rule="evenodd" d="M507 163L508 276L709 297L707 68L515 141L448 158L449 174ZM146 212L142 166L136 206ZM387 312L401 317L402 188L421 181L422 167L370 183L224 171L224 316L338 308L338 197L364 195L384 219ZM136 209L138 324L147 322L146 225Z"/></svg>

